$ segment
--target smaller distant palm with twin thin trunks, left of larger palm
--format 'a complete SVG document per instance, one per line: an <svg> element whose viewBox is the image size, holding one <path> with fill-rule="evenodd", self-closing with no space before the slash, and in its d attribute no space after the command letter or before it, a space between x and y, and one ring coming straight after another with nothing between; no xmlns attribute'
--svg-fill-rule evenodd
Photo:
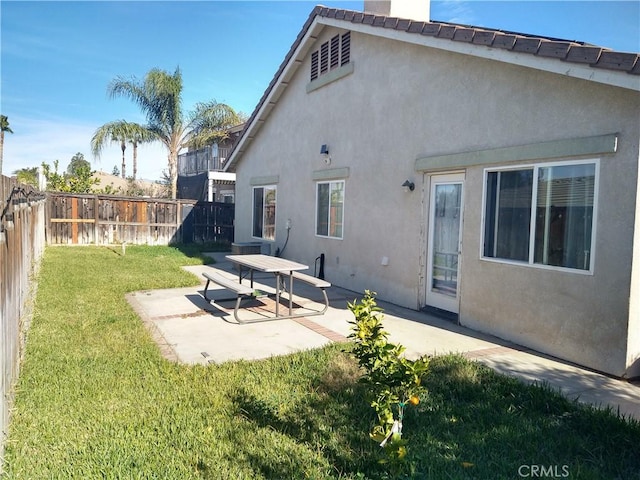
<svg viewBox="0 0 640 480"><path fill-rule="evenodd" d="M138 171L138 145L149 142L155 136L146 127L137 123L119 120L102 125L96 130L91 139L91 151L95 157L99 157L104 147L112 142L119 142L122 150L122 178L126 178L125 150L127 142L133 144L133 178L135 180Z"/></svg>

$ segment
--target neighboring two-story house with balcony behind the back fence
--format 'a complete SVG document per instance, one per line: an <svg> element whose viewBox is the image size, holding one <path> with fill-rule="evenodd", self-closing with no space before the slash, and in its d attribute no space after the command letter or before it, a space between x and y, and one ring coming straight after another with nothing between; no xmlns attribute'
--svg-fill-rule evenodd
<svg viewBox="0 0 640 480"><path fill-rule="evenodd" d="M178 155L178 198L234 203L235 174L222 170L243 128L230 128L223 142Z"/></svg>

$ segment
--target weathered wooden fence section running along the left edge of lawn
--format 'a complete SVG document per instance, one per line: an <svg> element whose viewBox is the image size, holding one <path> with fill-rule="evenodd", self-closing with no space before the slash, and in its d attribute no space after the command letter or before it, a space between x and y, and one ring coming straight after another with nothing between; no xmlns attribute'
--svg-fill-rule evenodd
<svg viewBox="0 0 640 480"><path fill-rule="evenodd" d="M45 195L0 175L0 473L12 388L31 315L31 282L44 246Z"/></svg>

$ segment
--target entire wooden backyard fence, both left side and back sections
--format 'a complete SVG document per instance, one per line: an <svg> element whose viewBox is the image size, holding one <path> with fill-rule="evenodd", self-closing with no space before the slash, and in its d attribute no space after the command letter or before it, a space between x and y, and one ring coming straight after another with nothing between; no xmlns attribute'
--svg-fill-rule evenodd
<svg viewBox="0 0 640 480"><path fill-rule="evenodd" d="M44 194L0 175L0 475L45 244L233 242L234 205L109 195Z"/></svg>

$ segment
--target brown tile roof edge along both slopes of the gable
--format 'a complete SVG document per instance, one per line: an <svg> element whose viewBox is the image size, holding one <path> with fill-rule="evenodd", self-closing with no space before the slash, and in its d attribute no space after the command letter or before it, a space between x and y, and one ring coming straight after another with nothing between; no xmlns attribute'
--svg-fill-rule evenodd
<svg viewBox="0 0 640 480"><path fill-rule="evenodd" d="M309 28L316 17L336 19L352 24L369 25L375 28L393 29L414 35L434 37L449 42L468 43L490 47L500 50L507 50L516 53L527 53L533 56L557 59L559 61L581 64L601 70L613 70L616 72L626 72L631 75L640 75L640 54L618 52L605 47L598 47L576 40L563 40L559 38L542 37L526 33L510 32L491 28L474 27L438 21L416 21L405 18L386 17L367 12L354 10L343 10L317 5L309 14L309 18L303 25L300 33L289 49L284 61L273 76L269 86L265 90L262 98L258 102L251 117L245 124L245 131L240 135L241 139L246 130L251 127L256 116L269 96L272 89L277 85L280 75L285 70L291 58L295 55L298 46L304 40ZM346 27L345 27L346 28ZM232 162L238 143L230 153Z"/></svg>

